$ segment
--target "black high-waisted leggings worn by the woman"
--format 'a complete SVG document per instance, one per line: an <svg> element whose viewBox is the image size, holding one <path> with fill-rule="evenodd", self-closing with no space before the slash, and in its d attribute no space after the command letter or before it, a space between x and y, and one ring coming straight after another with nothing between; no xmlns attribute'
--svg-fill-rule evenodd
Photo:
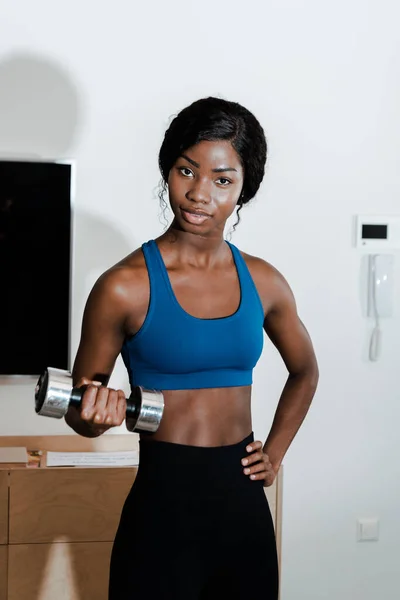
<svg viewBox="0 0 400 600"><path fill-rule="evenodd" d="M141 441L115 538L109 600L278 598L275 533L242 442Z"/></svg>

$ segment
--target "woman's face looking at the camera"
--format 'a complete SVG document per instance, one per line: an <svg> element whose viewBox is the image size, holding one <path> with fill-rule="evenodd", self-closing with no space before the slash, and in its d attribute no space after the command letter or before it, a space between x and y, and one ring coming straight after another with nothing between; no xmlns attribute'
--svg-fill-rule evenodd
<svg viewBox="0 0 400 600"><path fill-rule="evenodd" d="M186 150L168 177L174 225L200 235L223 233L243 178L243 167L230 142L203 141Z"/></svg>

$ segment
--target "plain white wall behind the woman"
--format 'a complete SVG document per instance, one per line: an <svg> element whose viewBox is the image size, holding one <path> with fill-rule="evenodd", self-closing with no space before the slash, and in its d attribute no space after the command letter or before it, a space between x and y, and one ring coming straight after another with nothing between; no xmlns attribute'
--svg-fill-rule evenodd
<svg viewBox="0 0 400 600"><path fill-rule="evenodd" d="M399 314L368 363L351 246L353 215L400 212L399 19L395 0L0 6L0 153L77 160L73 354L98 274L162 229L154 187L170 116L222 95L266 128L267 178L233 241L285 274L321 368L285 460L282 600L400 596ZM258 437L284 379L269 346ZM120 366L114 380L126 385ZM35 416L32 387L1 382L0 434L66 432ZM378 543L356 543L358 516L381 519Z"/></svg>

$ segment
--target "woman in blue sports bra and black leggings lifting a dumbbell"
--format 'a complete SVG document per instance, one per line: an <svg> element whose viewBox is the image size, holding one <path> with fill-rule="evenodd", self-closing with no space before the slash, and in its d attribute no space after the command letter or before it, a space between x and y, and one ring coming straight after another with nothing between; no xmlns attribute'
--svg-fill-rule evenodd
<svg viewBox="0 0 400 600"><path fill-rule="evenodd" d="M271 485L312 400L318 369L282 275L224 241L228 217L256 194L266 141L237 103L194 102L159 154L174 220L95 284L73 369L88 385L67 423L85 436L121 425L107 387L122 353L131 385L163 391L156 433L141 436L110 571L110 600L276 600ZM252 370L263 329L289 376L265 443L254 441Z"/></svg>

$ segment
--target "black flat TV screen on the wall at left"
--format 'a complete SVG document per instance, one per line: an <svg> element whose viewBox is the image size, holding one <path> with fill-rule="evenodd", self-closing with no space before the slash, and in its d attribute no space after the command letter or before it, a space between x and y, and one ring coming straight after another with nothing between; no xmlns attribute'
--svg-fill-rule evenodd
<svg viewBox="0 0 400 600"><path fill-rule="evenodd" d="M0 375L69 367L71 175L0 160Z"/></svg>

